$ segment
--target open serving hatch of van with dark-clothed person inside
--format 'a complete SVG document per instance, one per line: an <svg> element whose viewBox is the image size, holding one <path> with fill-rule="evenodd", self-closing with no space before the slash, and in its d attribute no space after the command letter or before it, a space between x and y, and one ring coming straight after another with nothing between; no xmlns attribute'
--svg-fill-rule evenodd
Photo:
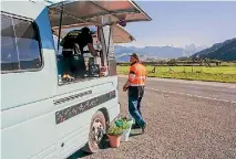
<svg viewBox="0 0 236 159"><path fill-rule="evenodd" d="M59 82L62 84L109 75L104 70L104 56L98 31L90 31L90 34L84 35L82 29L71 29L71 31L62 33L64 34L60 41L62 54L57 55ZM89 40L90 38L91 40ZM98 56L92 55L86 42L93 44Z"/></svg>

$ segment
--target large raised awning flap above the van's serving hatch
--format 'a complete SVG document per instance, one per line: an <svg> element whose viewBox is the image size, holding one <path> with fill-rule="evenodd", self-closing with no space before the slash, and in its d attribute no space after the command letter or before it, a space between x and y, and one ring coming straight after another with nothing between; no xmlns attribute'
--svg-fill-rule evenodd
<svg viewBox="0 0 236 159"><path fill-rule="evenodd" d="M152 19L133 1L62 1L48 7L52 29L60 25L63 10L62 29L73 25L105 25L126 22L151 21Z"/></svg>

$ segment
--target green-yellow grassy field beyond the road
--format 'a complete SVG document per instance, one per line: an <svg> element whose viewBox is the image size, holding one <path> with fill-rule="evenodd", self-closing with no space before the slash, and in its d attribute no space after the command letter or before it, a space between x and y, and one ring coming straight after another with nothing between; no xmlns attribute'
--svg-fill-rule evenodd
<svg viewBox="0 0 236 159"><path fill-rule="evenodd" d="M195 80L236 83L236 66L154 66L147 65L146 70L150 77ZM116 67L119 74L127 74L129 66Z"/></svg>

